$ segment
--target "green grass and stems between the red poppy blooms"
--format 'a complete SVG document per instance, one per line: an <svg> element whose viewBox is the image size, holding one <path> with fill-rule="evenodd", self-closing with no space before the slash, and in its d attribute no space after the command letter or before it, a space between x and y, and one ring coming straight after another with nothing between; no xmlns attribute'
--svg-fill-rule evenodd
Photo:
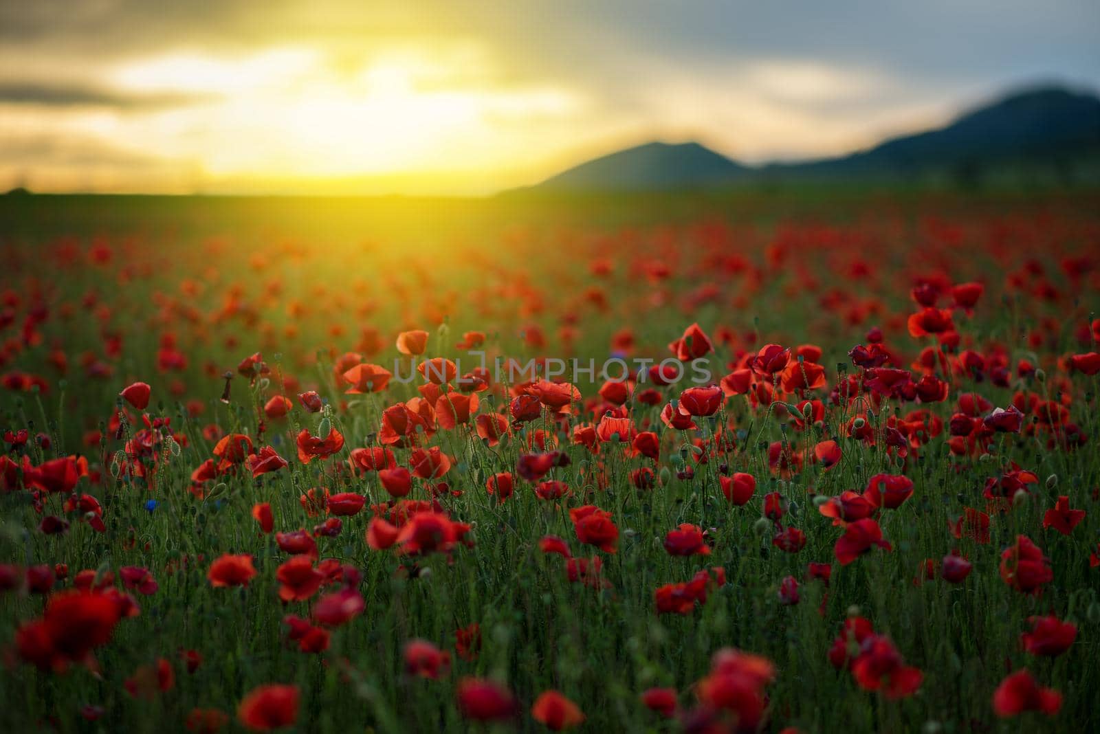
<svg viewBox="0 0 1100 734"><path fill-rule="evenodd" d="M580 731L676 732L683 731L678 720L661 720L638 696L653 686L675 687L681 707L695 707L692 686L707 674L712 655L727 646L765 656L776 666L774 681L766 687L762 731L1096 730L1100 568L1090 567L1089 554L1100 540L1100 386L1097 377L1068 372L1058 362L1096 349L1079 342L1079 332L1096 318L1098 274L1074 282L1059 268L1062 258L1074 254L1100 260L1094 199L1081 192L1036 199L732 192L550 202L0 201L8 264L0 291L14 294L10 308L15 313L0 333L8 341L0 372L38 374L51 386L45 394L0 392L2 426L51 437L48 449L35 446L33 438L28 444L34 465L54 456L86 455L100 480L84 478L78 491L100 501L107 527L96 533L77 513L64 512L64 497L52 496L45 514L65 516L72 525L67 533L45 535L37 530L42 515L30 493L12 491L0 497L0 563L66 564L68 579L58 581L58 589L70 586L81 569L118 575L129 565L147 567L160 583L155 594L135 593L141 614L122 620L110 642L95 650L98 675L81 666L64 675L40 671L13 650L0 675L3 730L179 731L191 709L215 708L234 716L228 724L232 731L241 727L234 712L246 692L264 683L293 682L301 690L301 710L292 731L471 731L477 724L463 720L454 701L457 680L470 675L504 682L519 701L520 712L512 722L485 726L488 731L542 730L528 710L540 692L552 688L586 714ZM108 265L88 264L85 253L97 237L113 251ZM777 258L778 249L785 256ZM719 256L735 254L747 271L722 268ZM588 271L590 263L601 257L615 266L608 280ZM653 259L670 266L667 280L649 280L632 267ZM1009 274L1027 259L1041 263L1045 275L1031 276L1027 288L1011 286ZM868 273L853 277L855 263ZM726 363L754 346L745 333L755 331L754 348L769 342L823 347L831 388L838 364L845 364L847 374L858 371L847 352L866 343L871 325L883 327L887 344L902 357L899 367L909 368L921 347L934 344L930 337L912 338L904 319L915 308L909 299L913 278L936 267L955 282L986 282L975 315L955 315L960 348L987 358L1003 351L1011 385L997 387L988 376L950 375L944 376L950 382L945 403L883 401L868 416L880 435L888 419L911 410L927 408L944 422L943 434L908 461L883 451L881 441L869 446L847 437L844 426L857 410L828 404L826 388L810 396L826 401L825 420L806 431L787 425L782 410L754 407L744 396L728 398L717 423L728 426L736 447L696 464L689 445L710 430L696 434L663 426L660 409L679 394L672 387L662 390L656 407L630 404L639 430L661 434L656 488L638 490L629 482L631 469L654 466L652 461L629 457L615 444L604 444L593 455L559 431L558 447L571 464L547 478L565 481L572 496L558 503L539 500L530 482L517 475L515 494L496 503L485 492L486 477L515 472L519 455L529 451L530 432L553 433L553 423L543 415L496 447L464 429L440 431L431 444L453 457L444 479L462 492L441 503L453 519L472 525L474 545L457 548L451 558L371 550L364 541L370 507L343 518L338 537L317 538L320 557L362 571L366 608L332 631L331 647L320 655L301 653L286 641L283 616L308 618L311 602L284 605L278 600L275 572L288 556L273 535L258 532L253 504L270 502L276 530L285 532L312 530L324 520L323 513L307 516L299 502L310 488L363 493L369 505L388 499L376 475L338 476L337 463L345 461L351 448L374 445L384 408L418 394L414 386L396 382L378 394L343 394L345 386L332 376L333 358L356 351L363 329L377 330L382 344L367 362L388 367L397 356L396 334L409 327L431 333L428 356L461 356L454 343L462 332L480 330L488 334L491 349L522 360L544 355L598 362L609 353L610 336L624 327L635 334L635 356L666 358L666 345L697 321L712 338L721 326L735 333L729 344L716 342L716 354L710 355L716 378L728 371ZM193 280L196 289L182 290L184 280ZM1049 281L1054 296L1035 294L1032 286L1040 280ZM693 298L707 285L714 287L713 298ZM604 292L605 310L584 298L590 288ZM234 289L241 308L229 312L227 294ZM97 293L95 305L85 300L89 292ZM949 297L942 305L947 302ZM41 341L24 344L21 329L33 303L46 305L47 315L36 326ZM288 315L289 303L300 304L301 315ZM109 310L97 312L103 307ZM566 314L575 318L565 320ZM446 324L438 323L444 315ZM546 346L524 343L519 332L532 323L543 327ZM575 338L561 338L563 324L576 330ZM288 326L296 333L288 334ZM166 333L175 335L188 357L182 371L157 368L158 341ZM1032 334L1042 343L1030 343ZM121 337L117 353L107 349L105 336ZM67 372L51 366L54 351L67 355ZM256 351L272 374L251 388L235 377L232 401L222 403L219 376ZM81 365L85 354L109 365L112 374L89 375ZM1018 377L1015 365L1022 358L1041 367L1046 379ZM266 432L256 440L257 415L286 378L299 386L286 391L295 410L285 420L266 421ZM186 437L178 454L166 452L152 489L141 479L112 476L112 459L123 441L109 431L98 443L86 440L88 432L107 424L118 392L134 380L153 387L147 412L169 418L173 431ZM600 387L586 379L576 385L585 399ZM333 407L331 425L346 444L331 459L302 465L293 437L302 427L317 433L320 416L302 411L294 393L311 388ZM482 413L506 403L498 389L483 393L494 399L483 399ZM948 451L947 422L960 393L978 392L994 407L1005 407L1018 391L1044 399L1066 396L1070 420L1087 435L1086 443L1074 449L1049 444L1049 431L1034 427L1028 416L1027 432L994 436L988 453L955 456ZM196 402L190 409L189 401ZM201 414L196 414L198 407ZM132 435L142 427L135 424L140 412L128 412ZM570 422L598 420L582 412ZM198 499L189 491L190 474L211 456L215 442L204 435L209 425L250 434L257 448L270 444L290 465L258 480L246 471L221 477L207 486L210 491L224 482L217 498ZM823 470L812 458L789 477L769 468L771 442L812 451L826 437L836 437L844 453L832 469ZM395 453L407 465L408 451ZM987 478L1012 463L1038 476L1030 496L1007 513L991 513L989 544L955 540L948 522L964 507L986 509ZM694 466L694 478L676 477L684 464ZM722 496L723 465L757 477L747 505L730 505ZM817 512L812 493L858 491L880 472L903 472L914 482L909 501L877 515L893 550L875 549L842 567L833 546L843 529ZM759 522L762 498L771 491L791 503L783 524L806 534L806 546L798 554L773 547L772 530ZM1070 498L1070 507L1087 511L1069 536L1042 525L1044 512L1060 494ZM407 499L427 498L426 482L416 479ZM145 509L151 499L157 501L153 511ZM578 541L568 509L588 503L612 513L620 532L617 553ZM680 523L708 531L710 556L681 558L664 552L664 534ZM539 550L547 534L564 538L575 556L601 556L609 586L570 583L564 560ZM1038 596L1013 590L999 575L1001 552L1018 534L1031 537L1049 557L1054 579ZM938 561L953 548L974 564L964 583L915 581L925 559ZM246 588L211 588L207 568L223 553L254 557L257 574ZM810 561L834 564L827 588L806 578ZM725 568L727 583L706 603L684 616L657 614L658 587L688 581L712 566ZM795 605L780 603L785 576L801 582ZM0 646L12 643L19 625L42 609L38 594L0 596ZM924 672L916 694L888 700L832 667L829 646L844 620L857 613L889 635L908 665ZM1035 614L1077 624L1069 650L1050 659L1021 648L1020 635ZM476 659L464 660L455 655L454 632L474 622L482 629L482 649ZM404 674L404 645L417 637L451 653L450 675L422 680ZM204 656L194 674L185 670L179 649ZM175 687L151 700L131 697L124 680L160 657L172 663ZM1063 693L1056 716L994 715L993 690L1022 667L1042 686ZM105 713L85 721L84 705L102 707Z"/></svg>

